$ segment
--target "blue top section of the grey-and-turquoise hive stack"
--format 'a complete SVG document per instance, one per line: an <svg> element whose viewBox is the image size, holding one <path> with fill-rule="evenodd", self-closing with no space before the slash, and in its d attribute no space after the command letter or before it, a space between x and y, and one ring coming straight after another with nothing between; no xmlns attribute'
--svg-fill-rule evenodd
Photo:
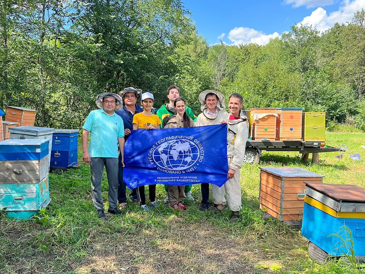
<svg viewBox="0 0 365 274"><path fill-rule="evenodd" d="M0 161L40 160L48 155L48 140L25 139L0 142Z"/></svg>

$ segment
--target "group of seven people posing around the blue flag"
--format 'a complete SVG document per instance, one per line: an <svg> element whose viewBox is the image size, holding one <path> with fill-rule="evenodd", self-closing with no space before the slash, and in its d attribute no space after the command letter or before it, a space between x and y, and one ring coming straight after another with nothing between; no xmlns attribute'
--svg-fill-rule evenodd
<svg viewBox="0 0 365 274"><path fill-rule="evenodd" d="M137 100L141 99L141 106ZM156 130L160 128L180 128L193 126L228 124L227 156L229 171L227 182L218 187L212 184L213 210L221 212L226 205L232 211L231 221L236 222L241 209L241 189L239 185L240 168L245 155L249 134L249 120L242 111L243 98L238 93L229 97L226 111L224 96L215 90L204 90L199 95L202 113L196 118L186 102L180 97L180 89L171 85L167 89L169 102L153 114L154 96L141 89L128 87L119 95L103 93L96 97L100 108L88 115L83 126L83 160L90 163L92 201L100 218L105 218L101 196L102 174L105 166L109 184L108 198L110 214L121 214L127 207L126 184L123 180L124 144L132 130ZM194 121L194 120L195 121ZM90 134L89 147L87 147ZM165 185L166 201L174 210L186 210L185 198L193 199L191 185ZM201 211L210 207L209 182L201 184ZM135 188L129 195L132 201L139 202L141 208L150 210L146 204L144 186ZM149 198L152 207L157 207L156 185L149 185ZM119 203L119 207L117 206Z"/></svg>

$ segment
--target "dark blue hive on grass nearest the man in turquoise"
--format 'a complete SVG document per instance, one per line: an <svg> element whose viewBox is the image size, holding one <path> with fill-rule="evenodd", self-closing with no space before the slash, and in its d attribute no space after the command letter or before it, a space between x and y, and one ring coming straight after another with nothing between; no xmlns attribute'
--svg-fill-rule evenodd
<svg viewBox="0 0 365 274"><path fill-rule="evenodd" d="M51 169L65 169L78 164L77 129L56 129L52 138Z"/></svg>

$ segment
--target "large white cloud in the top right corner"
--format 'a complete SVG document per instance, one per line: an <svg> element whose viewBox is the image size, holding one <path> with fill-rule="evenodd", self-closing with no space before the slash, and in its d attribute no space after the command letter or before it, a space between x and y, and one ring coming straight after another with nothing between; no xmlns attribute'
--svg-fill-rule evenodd
<svg viewBox="0 0 365 274"><path fill-rule="evenodd" d="M365 9L365 0L345 0L340 4L338 11L331 12L329 15L323 8L317 8L309 16L298 23L303 26L312 26L319 31L325 31L331 28L336 22L338 24L346 24L354 17L354 13L358 10Z"/></svg>

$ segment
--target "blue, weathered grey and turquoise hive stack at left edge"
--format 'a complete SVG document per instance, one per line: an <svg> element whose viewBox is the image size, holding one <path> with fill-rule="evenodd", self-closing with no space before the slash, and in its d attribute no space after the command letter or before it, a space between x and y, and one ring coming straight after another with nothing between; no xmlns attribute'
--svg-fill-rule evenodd
<svg viewBox="0 0 365 274"><path fill-rule="evenodd" d="M48 140L0 142L0 209L27 219L50 203Z"/></svg>

